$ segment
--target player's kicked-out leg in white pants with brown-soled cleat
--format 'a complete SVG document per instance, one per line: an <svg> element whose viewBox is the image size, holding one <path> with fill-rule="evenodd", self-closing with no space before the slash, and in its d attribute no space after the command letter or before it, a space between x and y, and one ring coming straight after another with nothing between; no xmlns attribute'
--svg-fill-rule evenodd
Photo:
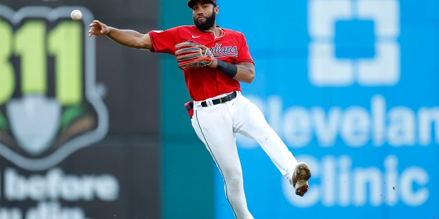
<svg viewBox="0 0 439 219"><path fill-rule="evenodd" d="M256 105L242 95L237 97L235 104L235 131L256 140L282 175L294 185L296 194L303 196L308 190L307 181L311 177L307 164L297 162Z"/></svg>

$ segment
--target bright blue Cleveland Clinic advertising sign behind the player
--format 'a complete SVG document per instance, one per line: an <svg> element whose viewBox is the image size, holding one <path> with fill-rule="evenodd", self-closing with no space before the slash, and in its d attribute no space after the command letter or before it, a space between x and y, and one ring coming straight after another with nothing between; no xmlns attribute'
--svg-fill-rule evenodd
<svg viewBox="0 0 439 219"><path fill-rule="evenodd" d="M243 94L313 173L296 196L257 142L237 136L254 218L439 217L436 0L218 5L217 25L243 32L256 62ZM216 177L215 216L233 218Z"/></svg>

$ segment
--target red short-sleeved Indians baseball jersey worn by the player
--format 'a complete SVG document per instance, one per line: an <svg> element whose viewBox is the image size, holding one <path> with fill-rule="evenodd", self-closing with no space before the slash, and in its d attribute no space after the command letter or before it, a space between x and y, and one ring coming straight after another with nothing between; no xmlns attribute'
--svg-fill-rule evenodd
<svg viewBox="0 0 439 219"><path fill-rule="evenodd" d="M195 26L180 26L165 31L150 31L154 52L174 55L177 43L192 40L211 48L213 55L230 64L251 62L254 64L244 34L231 29L222 29L222 34L215 38L213 33L204 32ZM220 94L241 91L239 81L228 77L217 68L195 68L183 70L189 95L195 101L203 101Z"/></svg>

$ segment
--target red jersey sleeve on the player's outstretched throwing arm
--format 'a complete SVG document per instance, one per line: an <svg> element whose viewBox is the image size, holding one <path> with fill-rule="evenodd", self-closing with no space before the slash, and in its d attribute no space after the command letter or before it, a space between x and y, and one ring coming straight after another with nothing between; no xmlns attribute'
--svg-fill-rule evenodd
<svg viewBox="0 0 439 219"><path fill-rule="evenodd" d="M150 34L153 52L168 53L174 55L174 46L178 43L178 27L167 29L165 31L152 30Z"/></svg>

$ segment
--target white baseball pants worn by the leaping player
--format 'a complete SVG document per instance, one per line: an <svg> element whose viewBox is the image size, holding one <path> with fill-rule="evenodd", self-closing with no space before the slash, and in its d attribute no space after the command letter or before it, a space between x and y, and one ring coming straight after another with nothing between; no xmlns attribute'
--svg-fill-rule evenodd
<svg viewBox="0 0 439 219"><path fill-rule="evenodd" d="M226 103L213 105L211 100L226 94L207 99L207 107L201 101L194 102L193 129L211 153L219 171L224 178L226 198L233 209L235 218L252 219L247 208L244 183L239 161L235 133L241 133L256 140L267 153L281 174L291 180L296 158L285 143L268 125L261 110L241 92ZM292 192L294 192L292 190Z"/></svg>

